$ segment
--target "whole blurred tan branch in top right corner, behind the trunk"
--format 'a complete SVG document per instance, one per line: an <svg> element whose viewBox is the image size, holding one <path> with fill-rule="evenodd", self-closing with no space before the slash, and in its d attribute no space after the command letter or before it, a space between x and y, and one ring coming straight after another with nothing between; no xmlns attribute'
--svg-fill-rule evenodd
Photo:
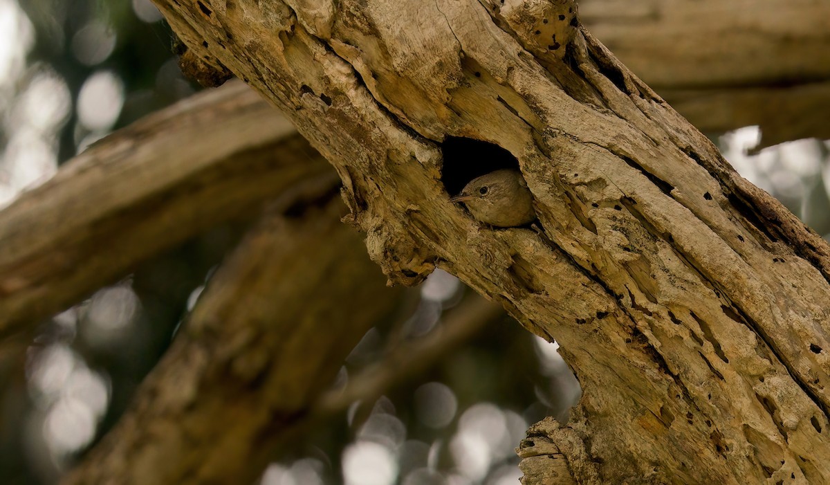
<svg viewBox="0 0 830 485"><path fill-rule="evenodd" d="M699 130L830 138L830 2L582 0L585 26Z"/></svg>

